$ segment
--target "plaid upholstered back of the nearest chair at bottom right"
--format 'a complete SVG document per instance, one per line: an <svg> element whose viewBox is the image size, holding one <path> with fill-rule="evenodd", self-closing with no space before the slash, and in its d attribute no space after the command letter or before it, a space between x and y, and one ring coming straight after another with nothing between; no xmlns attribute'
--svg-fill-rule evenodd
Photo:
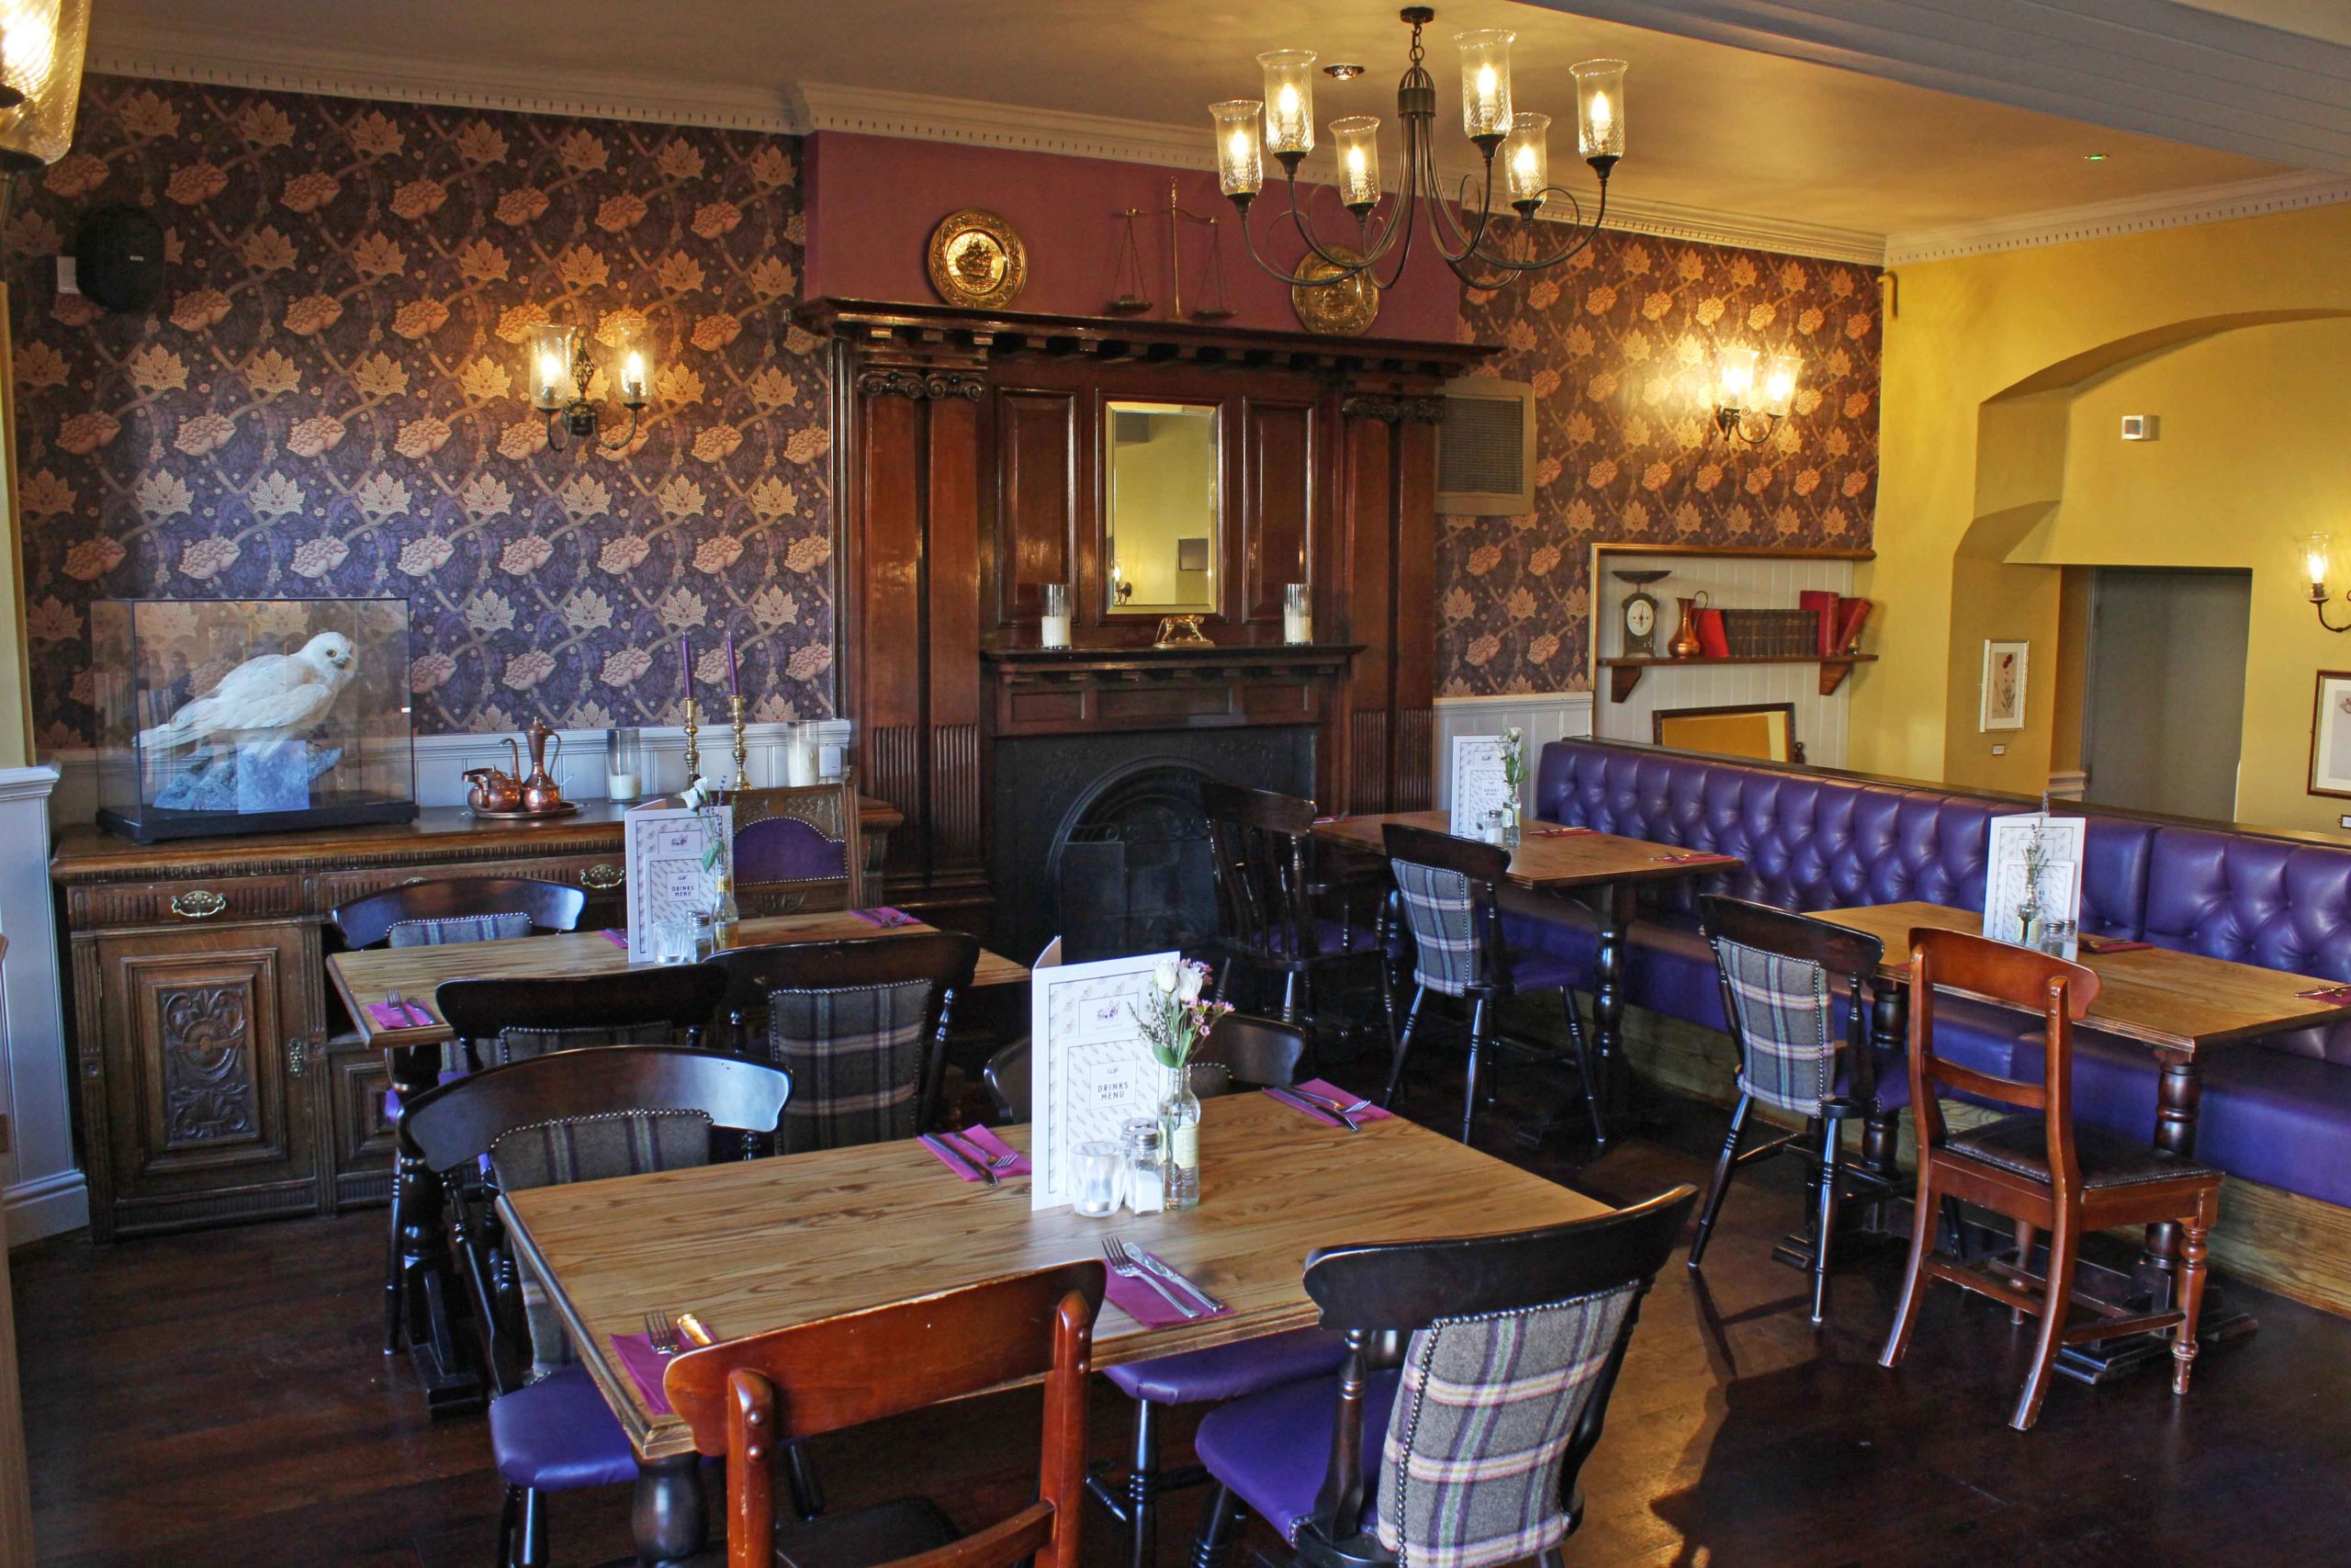
<svg viewBox="0 0 2351 1568"><path fill-rule="evenodd" d="M1396 1568L1491 1568L1566 1540L1559 1467L1639 1284L1413 1333L1380 1467Z"/></svg>

